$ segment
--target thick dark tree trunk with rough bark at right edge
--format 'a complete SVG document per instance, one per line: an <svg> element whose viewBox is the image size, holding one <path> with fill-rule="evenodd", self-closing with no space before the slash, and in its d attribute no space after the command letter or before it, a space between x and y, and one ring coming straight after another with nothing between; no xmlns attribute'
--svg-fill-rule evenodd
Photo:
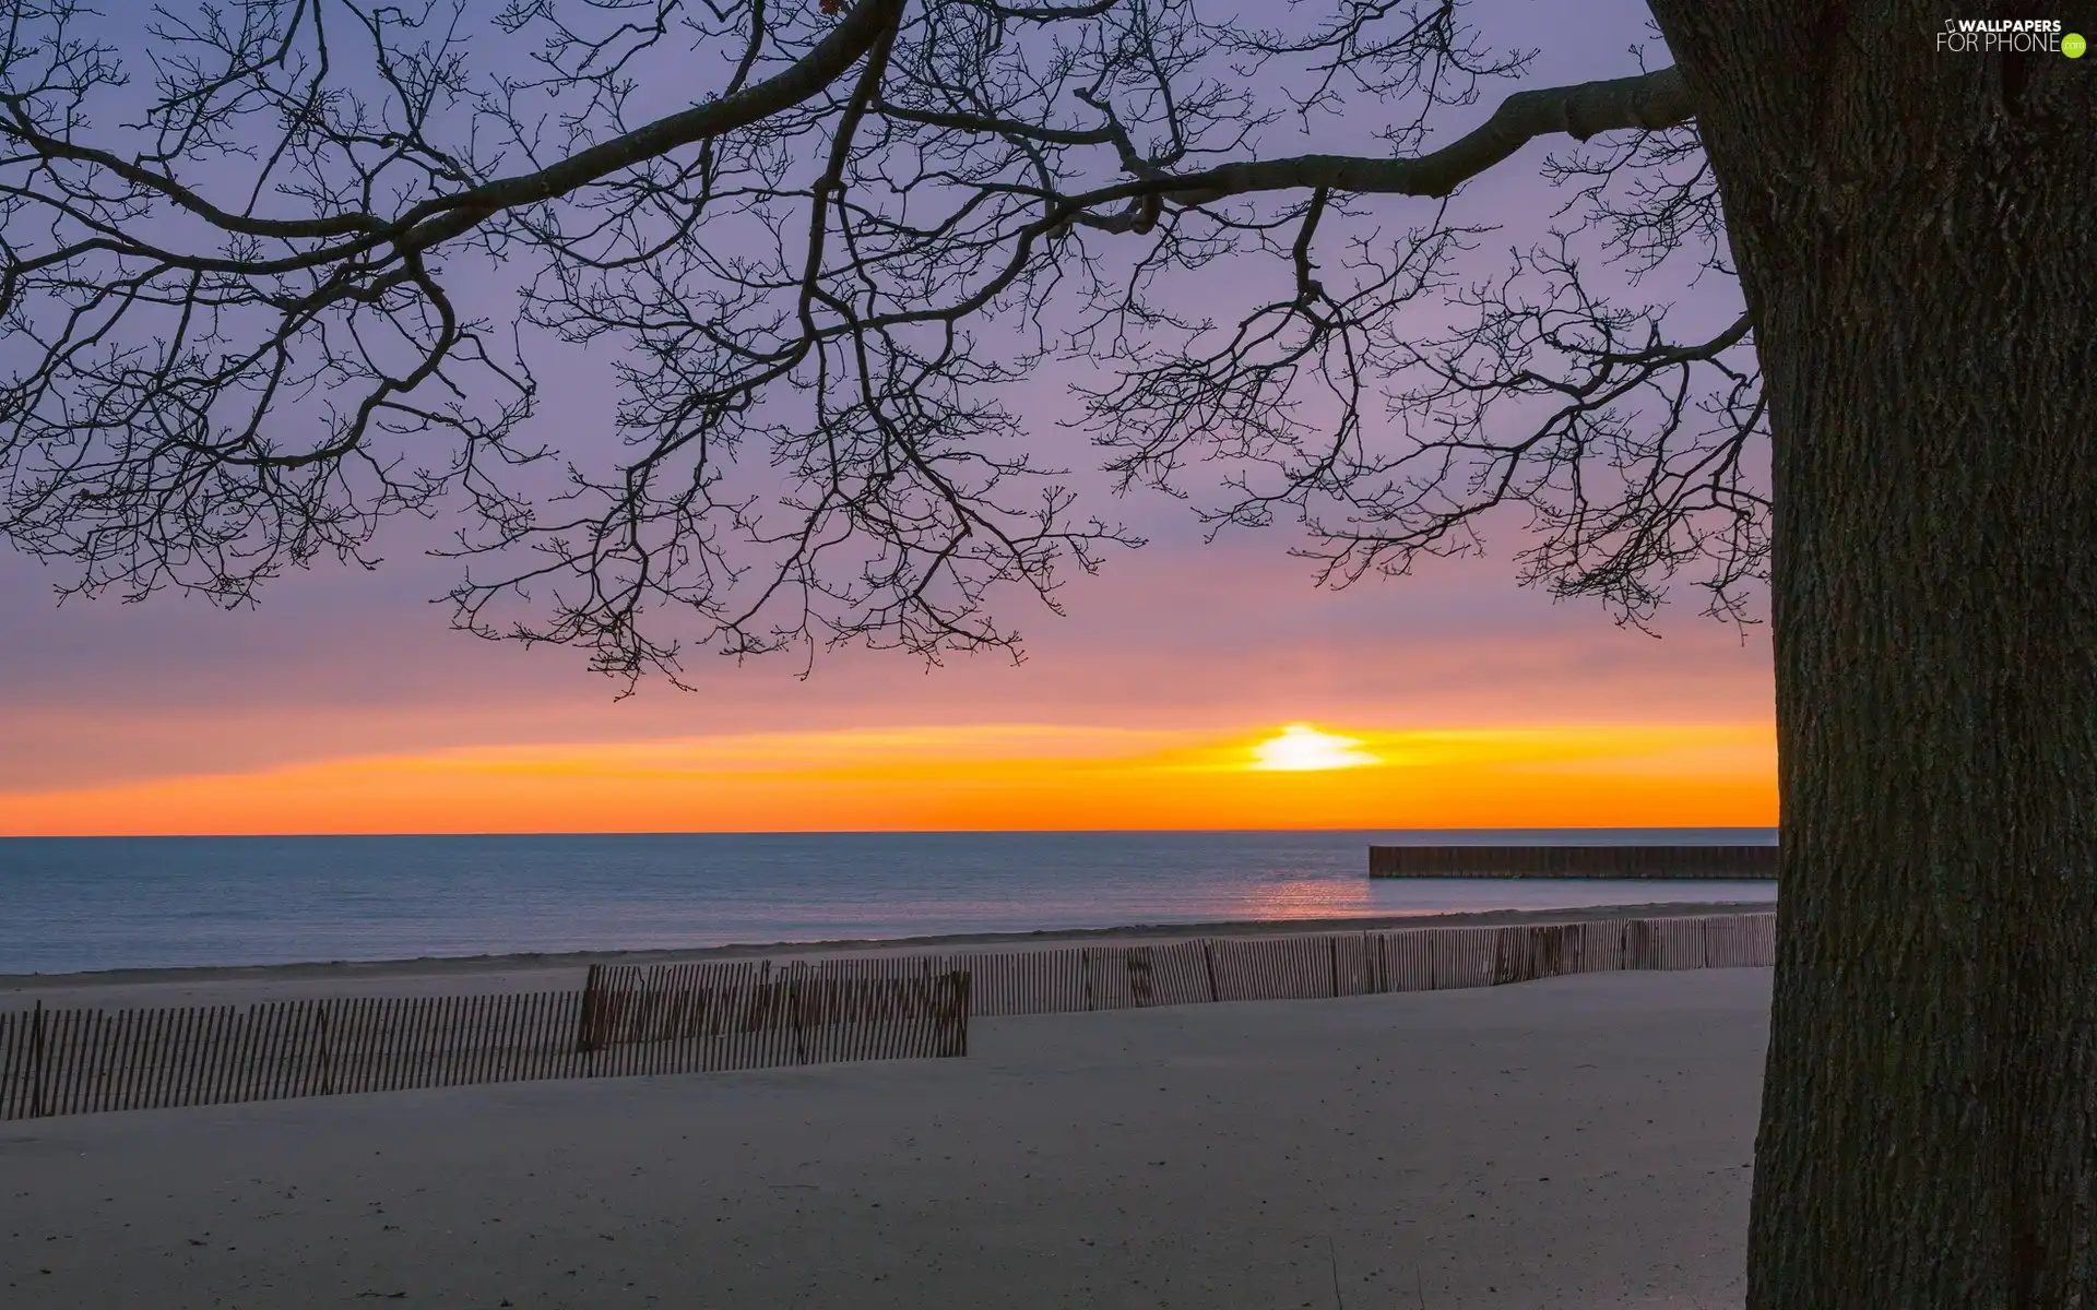
<svg viewBox="0 0 2097 1310"><path fill-rule="evenodd" d="M2097 57L1652 8L1774 434L1749 1306L2097 1308Z"/></svg>

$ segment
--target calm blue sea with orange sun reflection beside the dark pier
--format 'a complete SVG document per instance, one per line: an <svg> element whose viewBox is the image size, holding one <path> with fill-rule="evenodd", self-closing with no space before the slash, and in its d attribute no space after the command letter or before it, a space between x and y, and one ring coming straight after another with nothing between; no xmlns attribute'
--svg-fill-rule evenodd
<svg viewBox="0 0 2097 1310"><path fill-rule="evenodd" d="M1772 882L1369 880L1367 847L1581 832L0 838L0 973L1774 899Z"/></svg>

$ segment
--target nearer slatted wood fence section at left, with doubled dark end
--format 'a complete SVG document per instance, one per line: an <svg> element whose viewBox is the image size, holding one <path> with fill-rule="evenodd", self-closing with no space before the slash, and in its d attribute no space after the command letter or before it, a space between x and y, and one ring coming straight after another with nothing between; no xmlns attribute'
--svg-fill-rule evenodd
<svg viewBox="0 0 2097 1310"><path fill-rule="evenodd" d="M0 1119L969 1052L969 977L0 1012Z"/></svg>

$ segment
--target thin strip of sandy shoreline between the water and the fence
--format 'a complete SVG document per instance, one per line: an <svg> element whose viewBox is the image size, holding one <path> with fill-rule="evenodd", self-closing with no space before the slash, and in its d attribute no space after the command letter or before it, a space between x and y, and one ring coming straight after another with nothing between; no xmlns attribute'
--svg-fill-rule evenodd
<svg viewBox="0 0 2097 1310"><path fill-rule="evenodd" d="M352 979L468 979L474 975L547 975L583 970L591 964L686 964L700 960L820 958L929 954L956 947L1028 949L1082 941L1134 945L1187 937L1288 937L1298 933L1344 933L1418 926L1493 926L1512 922L1585 922L1596 918L1686 918L1696 914L1764 914L1774 901L1640 901L1623 905L1577 905L1566 910L1472 910L1449 914L1374 914L1338 918L1237 918L1187 924L1122 924L1111 929L1034 929L1025 933L952 933L927 937L847 937L828 941L732 943L709 947L596 949L596 952L512 952L482 956L419 956L407 960L308 960L287 964L187 964L161 968L99 968L78 973L0 973L0 994L67 991L92 987L294 983Z"/></svg>

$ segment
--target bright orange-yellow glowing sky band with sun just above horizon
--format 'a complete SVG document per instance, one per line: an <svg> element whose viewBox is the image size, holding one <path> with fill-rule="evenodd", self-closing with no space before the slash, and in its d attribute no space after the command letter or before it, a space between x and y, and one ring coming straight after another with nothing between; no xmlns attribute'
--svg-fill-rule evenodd
<svg viewBox="0 0 2097 1310"><path fill-rule="evenodd" d="M10 836L1774 824L1766 723L753 734L0 792Z"/></svg>

